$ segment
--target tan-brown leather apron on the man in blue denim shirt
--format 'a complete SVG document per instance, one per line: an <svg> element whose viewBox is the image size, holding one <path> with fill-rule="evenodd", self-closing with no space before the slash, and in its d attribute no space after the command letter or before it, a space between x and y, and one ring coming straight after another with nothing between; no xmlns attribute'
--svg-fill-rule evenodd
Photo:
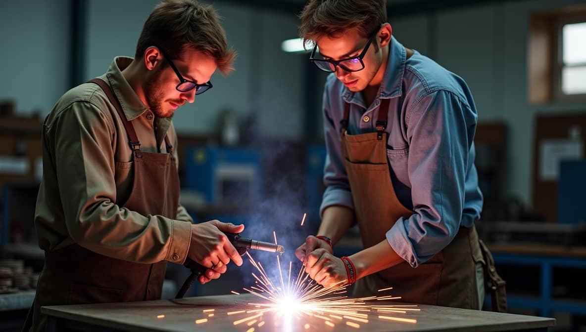
<svg viewBox="0 0 586 332"><path fill-rule="evenodd" d="M347 133L349 103L342 120L342 153L364 248L385 240L399 217L414 213L401 204L393 189L384 132L388 109L389 99L381 99L373 133ZM476 229L460 227L454 240L430 260L417 268L401 262L359 279L353 296L377 295L379 289L392 286L391 295L401 296L403 302L479 309L476 262L484 263Z"/></svg>

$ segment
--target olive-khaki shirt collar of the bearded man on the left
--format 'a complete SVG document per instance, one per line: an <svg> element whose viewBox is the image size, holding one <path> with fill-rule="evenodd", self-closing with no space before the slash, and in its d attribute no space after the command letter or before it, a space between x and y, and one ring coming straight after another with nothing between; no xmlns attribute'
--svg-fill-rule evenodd
<svg viewBox="0 0 586 332"><path fill-rule="evenodd" d="M142 103L136 92L128 84L124 75L122 75L122 70L128 67L132 60L130 57L115 57L105 73L105 77L117 96L127 120L136 119L148 110L147 106Z"/></svg>

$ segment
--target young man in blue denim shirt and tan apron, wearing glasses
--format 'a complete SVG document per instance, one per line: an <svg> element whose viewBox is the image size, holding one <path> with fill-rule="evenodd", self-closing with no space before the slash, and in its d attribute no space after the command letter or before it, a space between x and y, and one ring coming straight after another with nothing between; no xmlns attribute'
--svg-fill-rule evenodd
<svg viewBox="0 0 586 332"><path fill-rule="evenodd" d="M462 78L403 47L386 13L384 0L311 0L301 13L310 60L332 74L322 223L295 254L323 286L356 282L355 296L392 286L406 302L480 309L474 101ZM355 223L364 249L335 257Z"/></svg>

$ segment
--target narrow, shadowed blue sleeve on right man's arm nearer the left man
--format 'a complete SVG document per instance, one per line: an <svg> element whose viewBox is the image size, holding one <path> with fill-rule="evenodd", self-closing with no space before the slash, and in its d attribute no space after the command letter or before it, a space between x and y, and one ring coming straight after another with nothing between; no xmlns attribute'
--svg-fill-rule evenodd
<svg viewBox="0 0 586 332"><path fill-rule="evenodd" d="M331 116L329 105L329 88L323 91L323 131L325 135L326 159L323 167L323 184L326 189L323 192L319 215L323 217L323 210L332 205L347 206L354 209L352 192L346 175L346 167L342 156L342 143L340 141L340 129Z"/></svg>

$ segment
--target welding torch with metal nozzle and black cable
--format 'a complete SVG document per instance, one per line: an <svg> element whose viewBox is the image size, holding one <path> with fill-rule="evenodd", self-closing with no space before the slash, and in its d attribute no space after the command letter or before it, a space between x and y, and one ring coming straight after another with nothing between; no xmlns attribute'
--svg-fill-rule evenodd
<svg viewBox="0 0 586 332"><path fill-rule="evenodd" d="M234 248L236 248L236 251L238 251L238 253L241 256L246 254L246 251L248 251L248 249L270 251L271 253L278 253L281 255L285 253L285 248L280 244L257 241L251 238L241 237L240 233L224 234L226 234L228 240L230 240L230 243L234 245ZM206 269L209 269L201 264L196 263L193 260L190 260L189 257L185 258L185 262L183 263L183 265L191 270L191 275L189 275L189 278L187 278L187 280L183 283L183 286L181 286L181 289L179 289L177 296L175 296L176 299L182 299L185 293L188 291L188 289L197 280L197 278L199 278L200 275L203 275L204 272L206 272Z"/></svg>

